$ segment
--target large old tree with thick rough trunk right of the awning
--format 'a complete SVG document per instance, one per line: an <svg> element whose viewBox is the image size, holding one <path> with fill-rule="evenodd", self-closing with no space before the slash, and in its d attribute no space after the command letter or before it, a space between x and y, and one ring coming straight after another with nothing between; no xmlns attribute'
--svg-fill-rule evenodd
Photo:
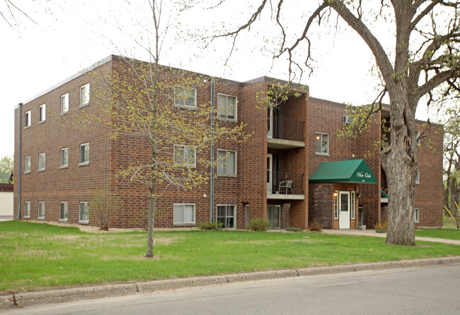
<svg viewBox="0 0 460 315"><path fill-rule="evenodd" d="M215 35L213 40L233 37L235 45L238 34L249 30L264 10L271 9L281 38L274 57L286 57L289 73L293 73L311 65L311 45L317 38L309 32L314 23L324 25L343 20L360 35L374 55L384 85L382 92L389 97L391 143L380 154L391 196L386 243L415 245L413 213L418 167L415 110L422 97L430 95L439 85L459 88L459 1L322 0L309 15L301 9L286 13L284 3L284 0L260 0L260 6L246 23ZM301 6L306 4L299 1L297 8ZM304 24L293 28L289 20L297 13L305 16ZM392 49L384 49L374 35L374 26L388 30L385 40L392 38Z"/></svg>

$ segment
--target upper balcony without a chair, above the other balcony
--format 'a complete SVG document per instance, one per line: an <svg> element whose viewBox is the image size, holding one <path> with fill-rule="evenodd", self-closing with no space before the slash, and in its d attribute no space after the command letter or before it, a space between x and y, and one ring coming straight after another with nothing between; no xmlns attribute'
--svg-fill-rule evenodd
<svg viewBox="0 0 460 315"><path fill-rule="evenodd" d="M268 117L268 148L304 148L304 121L284 117Z"/></svg>

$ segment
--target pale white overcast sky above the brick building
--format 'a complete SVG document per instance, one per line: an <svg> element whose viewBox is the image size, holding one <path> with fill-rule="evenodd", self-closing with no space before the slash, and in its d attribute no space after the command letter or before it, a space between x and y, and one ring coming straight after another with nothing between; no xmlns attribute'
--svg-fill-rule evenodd
<svg viewBox="0 0 460 315"><path fill-rule="evenodd" d="M4 11L1 2L0 10ZM110 54L120 54L119 51L146 60L145 53L132 41L133 38L147 38L142 31L145 25L147 28L149 25L149 16L142 8L145 1L132 0L134 8L127 6L124 0L16 2L18 5L28 4L21 8L38 25L20 15L16 16L19 24L16 28L0 20L0 157L14 152L14 107L19 102L30 99ZM228 2L227 6L214 11L195 9L177 19L176 15L171 17L173 27L168 30L170 36L163 44L161 64L235 81L248 81L260 76L287 79L286 63L280 59L273 63L268 52L273 47L270 42L280 38L275 28L267 26L270 11L251 28L249 35L242 33L228 66L224 65L224 59L230 51L229 40L218 40L207 49L200 48L200 42L193 37L195 28L214 31L221 28L222 21L227 26L241 24L250 15L247 3L259 3L258 0ZM298 1L299 6L285 8L288 32L299 30L299 25L303 27L305 15L316 8L316 2ZM299 23L292 13L288 16L289 11L299 13ZM166 21L166 17L163 18ZM331 24L335 25L335 20ZM309 85L313 97L353 105L372 102L377 94L376 79L370 71L374 59L364 42L346 29L339 23L339 32L335 35L335 28L314 28L311 32L316 61L314 75L304 77L301 83ZM142 34L139 33L141 31ZM178 32L179 38L176 37ZM380 28L380 32L381 36L388 37L389 30ZM301 48L299 52L304 52L305 47ZM426 117L426 108L420 104L417 118Z"/></svg>

